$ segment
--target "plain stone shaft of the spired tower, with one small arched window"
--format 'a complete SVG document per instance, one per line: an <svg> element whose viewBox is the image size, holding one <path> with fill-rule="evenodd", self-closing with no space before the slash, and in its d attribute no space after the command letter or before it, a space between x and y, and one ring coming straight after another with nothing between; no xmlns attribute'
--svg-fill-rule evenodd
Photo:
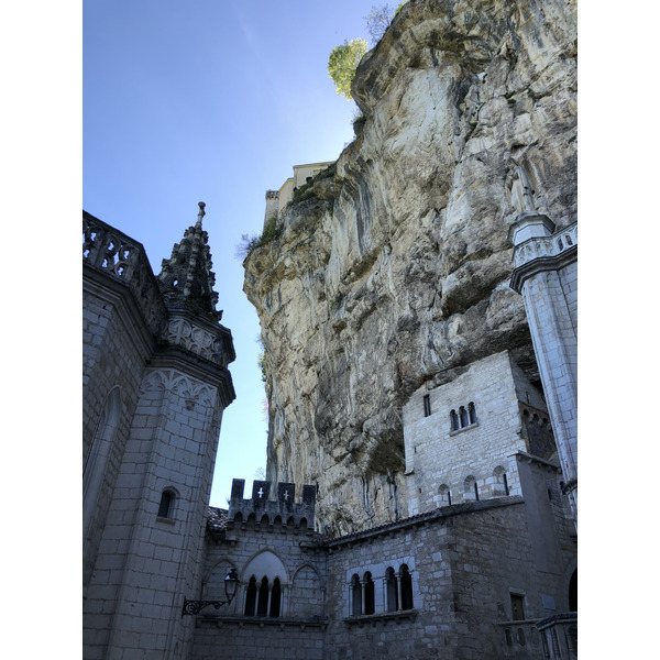
<svg viewBox="0 0 660 660"><path fill-rule="evenodd" d="M189 637L180 612L198 582L217 398L174 369L147 371L88 590L86 659L164 654ZM160 517L166 488L175 497Z"/></svg>

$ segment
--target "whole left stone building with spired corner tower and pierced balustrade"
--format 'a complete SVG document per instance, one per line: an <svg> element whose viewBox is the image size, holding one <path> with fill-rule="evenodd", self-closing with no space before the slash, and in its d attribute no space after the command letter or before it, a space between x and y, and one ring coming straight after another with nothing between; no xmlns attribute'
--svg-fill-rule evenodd
<svg viewBox="0 0 660 660"><path fill-rule="evenodd" d="M222 413L235 398L204 202L154 277L84 213L85 658L179 658Z"/></svg>

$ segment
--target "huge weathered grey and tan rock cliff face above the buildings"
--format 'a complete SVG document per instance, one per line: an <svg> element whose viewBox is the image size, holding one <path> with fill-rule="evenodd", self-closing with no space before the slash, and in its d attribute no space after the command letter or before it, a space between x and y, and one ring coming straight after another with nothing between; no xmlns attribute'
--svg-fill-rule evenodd
<svg viewBox="0 0 660 660"><path fill-rule="evenodd" d="M408 2L363 58L365 121L251 252L268 480L342 534L408 515L402 406L508 349L540 386L509 226L576 220L576 8Z"/></svg>

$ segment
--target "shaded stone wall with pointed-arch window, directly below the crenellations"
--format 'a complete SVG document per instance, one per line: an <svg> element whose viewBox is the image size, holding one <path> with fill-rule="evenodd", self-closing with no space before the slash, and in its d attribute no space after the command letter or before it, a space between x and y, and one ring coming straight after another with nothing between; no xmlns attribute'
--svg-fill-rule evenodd
<svg viewBox="0 0 660 660"><path fill-rule="evenodd" d="M286 517L284 518L286 521ZM326 552L311 530L276 524L231 522L224 539L207 537L199 598L223 598L222 582L234 568L240 586L230 605L197 615L191 660L300 658L322 660L326 629ZM250 578L282 584L279 616L245 616Z"/></svg>

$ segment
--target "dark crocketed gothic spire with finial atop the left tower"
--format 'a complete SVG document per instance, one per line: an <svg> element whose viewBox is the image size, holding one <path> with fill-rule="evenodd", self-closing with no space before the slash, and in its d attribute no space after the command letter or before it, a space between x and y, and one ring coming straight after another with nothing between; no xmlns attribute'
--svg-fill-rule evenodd
<svg viewBox="0 0 660 660"><path fill-rule="evenodd" d="M180 243L175 243L169 260L164 258L158 275L158 286L168 309L189 309L213 321L222 318L216 310L218 294L213 290L216 275L208 246L208 234L201 229L205 217L204 201L195 227L189 227Z"/></svg>

